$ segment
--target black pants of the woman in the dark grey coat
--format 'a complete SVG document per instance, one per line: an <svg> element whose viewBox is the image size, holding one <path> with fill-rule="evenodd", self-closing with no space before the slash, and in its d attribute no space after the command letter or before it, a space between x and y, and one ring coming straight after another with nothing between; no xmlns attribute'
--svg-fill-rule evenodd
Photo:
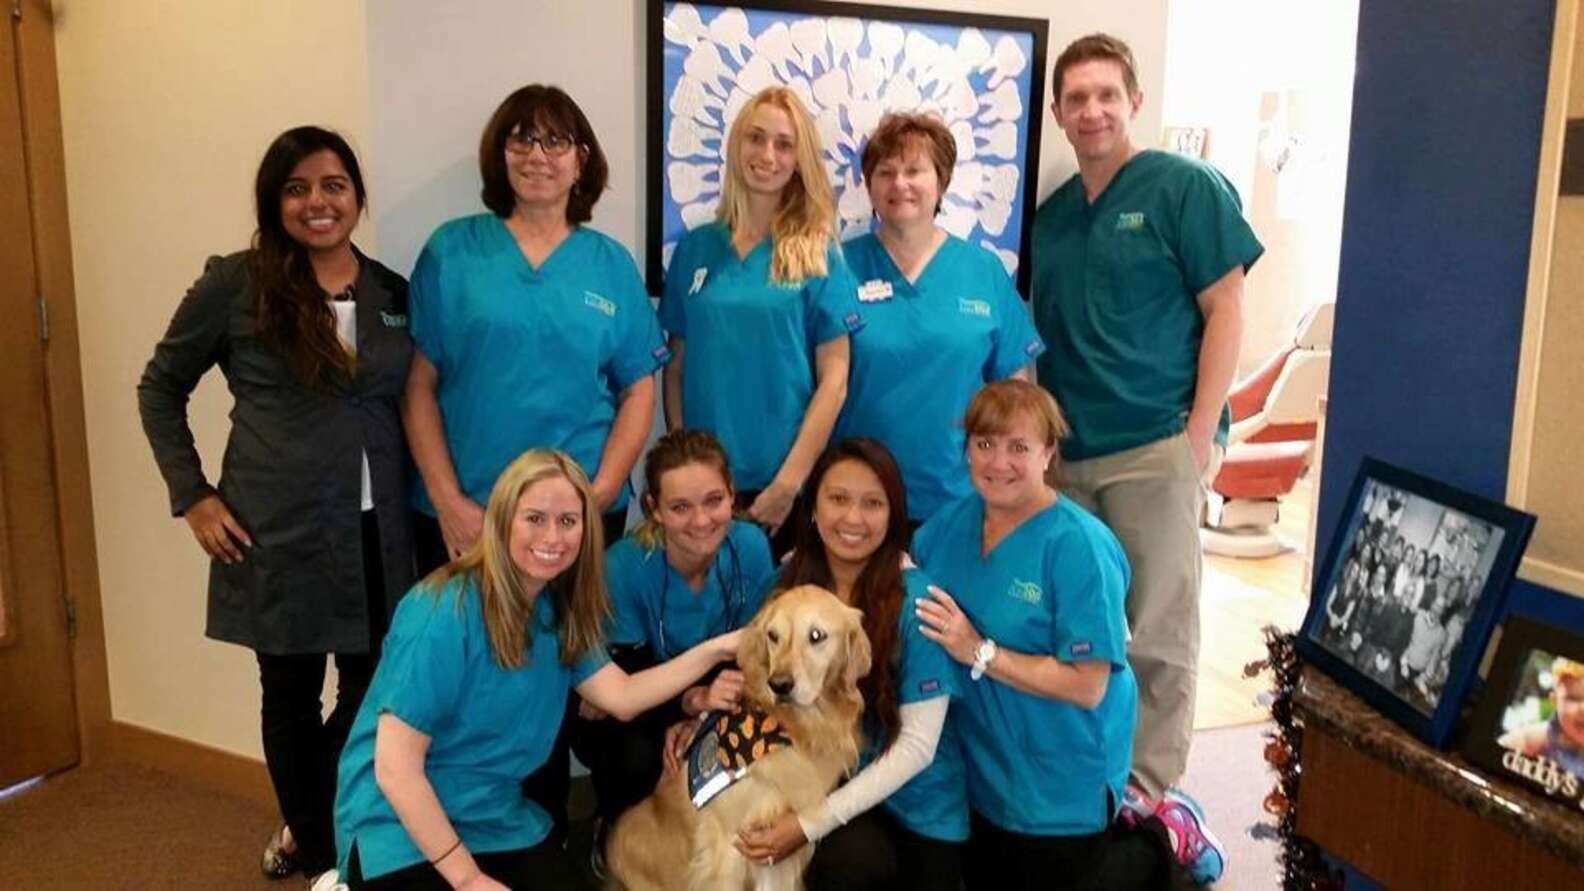
<svg viewBox="0 0 1584 891"><path fill-rule="evenodd" d="M307 875L336 866L331 809L336 804L336 763L352 720L369 690L379 642L385 636L385 582L374 511L363 514L363 577L369 609L369 653L334 653L336 707L322 718L325 653L255 653L263 688L260 725L265 766L276 788L280 816L296 840L296 861Z"/></svg>

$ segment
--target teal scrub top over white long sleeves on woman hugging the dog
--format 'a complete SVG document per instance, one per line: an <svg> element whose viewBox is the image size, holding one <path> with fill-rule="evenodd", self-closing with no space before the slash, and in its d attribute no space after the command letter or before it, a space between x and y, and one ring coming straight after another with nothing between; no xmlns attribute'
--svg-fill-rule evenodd
<svg viewBox="0 0 1584 891"><path fill-rule="evenodd" d="M925 702L939 696L952 696L957 690L957 669L939 644L919 631L914 601L930 596L930 577L922 569L904 569L901 574L903 599L897 614L897 664L892 679L897 682L897 704ZM952 710L947 709L947 723ZM884 751L879 723L865 723L866 745L860 766L868 766ZM935 747L935 761L900 790L885 799L889 810L909 831L927 839L961 842L968 839L968 778L963 774L963 755L946 731Z"/></svg>

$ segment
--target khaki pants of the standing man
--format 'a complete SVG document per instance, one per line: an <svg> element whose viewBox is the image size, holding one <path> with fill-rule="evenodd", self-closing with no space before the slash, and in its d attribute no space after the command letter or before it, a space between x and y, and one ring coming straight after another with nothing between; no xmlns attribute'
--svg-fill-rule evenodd
<svg viewBox="0 0 1584 891"><path fill-rule="evenodd" d="M1083 461L1058 463L1047 482L1110 526L1133 568L1128 663L1139 683L1133 780L1159 797L1188 767L1199 664L1199 515L1202 479L1186 434Z"/></svg>

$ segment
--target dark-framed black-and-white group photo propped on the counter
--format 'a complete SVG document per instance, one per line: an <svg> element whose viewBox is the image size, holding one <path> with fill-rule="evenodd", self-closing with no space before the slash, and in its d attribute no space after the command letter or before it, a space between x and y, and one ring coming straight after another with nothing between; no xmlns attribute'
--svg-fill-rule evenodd
<svg viewBox="0 0 1584 891"><path fill-rule="evenodd" d="M1440 748L1535 518L1365 458L1342 523L1299 652Z"/></svg>

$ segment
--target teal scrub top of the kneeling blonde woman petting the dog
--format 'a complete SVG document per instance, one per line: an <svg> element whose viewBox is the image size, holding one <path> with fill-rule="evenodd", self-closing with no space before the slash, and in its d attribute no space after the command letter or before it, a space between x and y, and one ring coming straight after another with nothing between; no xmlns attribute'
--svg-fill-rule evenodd
<svg viewBox="0 0 1584 891"><path fill-rule="evenodd" d="M567 691L602 669L604 647L561 663L548 591L534 601L534 634L520 669L489 650L482 596L472 576L436 595L421 583L401 599L369 693L341 753L336 853L342 875L352 847L366 877L425 861L374 780L374 734L391 713L429 737L425 774L474 853L531 848L551 820L523 797L523 777L550 756Z"/></svg>

